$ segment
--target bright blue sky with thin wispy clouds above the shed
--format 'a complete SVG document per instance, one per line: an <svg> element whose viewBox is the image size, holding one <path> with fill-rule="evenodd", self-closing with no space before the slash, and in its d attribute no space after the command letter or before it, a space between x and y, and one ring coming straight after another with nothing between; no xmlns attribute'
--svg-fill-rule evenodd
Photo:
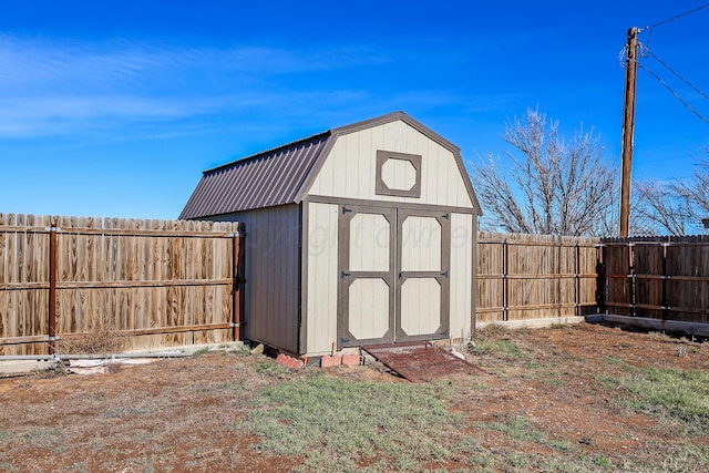
<svg viewBox="0 0 709 473"><path fill-rule="evenodd" d="M705 3L4 1L0 213L176 218L206 168L399 110L473 161L538 105L567 137L593 126L615 163L628 28ZM707 25L709 8L640 42L709 94ZM640 70L634 177L689 177L708 145Z"/></svg>

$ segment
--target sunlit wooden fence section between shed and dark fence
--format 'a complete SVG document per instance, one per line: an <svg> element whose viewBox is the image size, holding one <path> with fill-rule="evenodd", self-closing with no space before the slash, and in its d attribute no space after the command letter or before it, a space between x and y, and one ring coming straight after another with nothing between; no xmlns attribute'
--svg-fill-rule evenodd
<svg viewBox="0 0 709 473"><path fill-rule="evenodd" d="M481 232L476 322L596 311L598 238Z"/></svg>

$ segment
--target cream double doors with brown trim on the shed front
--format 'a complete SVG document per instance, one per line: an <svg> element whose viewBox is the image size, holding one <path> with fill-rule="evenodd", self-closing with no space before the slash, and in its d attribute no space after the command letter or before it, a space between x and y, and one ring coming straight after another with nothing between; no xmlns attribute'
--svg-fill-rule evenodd
<svg viewBox="0 0 709 473"><path fill-rule="evenodd" d="M450 214L341 205L339 347L449 336Z"/></svg>

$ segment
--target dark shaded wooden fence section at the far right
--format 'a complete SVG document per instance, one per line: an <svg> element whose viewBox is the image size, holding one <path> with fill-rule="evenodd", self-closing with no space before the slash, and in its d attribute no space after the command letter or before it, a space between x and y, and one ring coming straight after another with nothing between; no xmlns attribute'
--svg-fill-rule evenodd
<svg viewBox="0 0 709 473"><path fill-rule="evenodd" d="M599 259L602 309L709 323L709 237L606 238Z"/></svg>

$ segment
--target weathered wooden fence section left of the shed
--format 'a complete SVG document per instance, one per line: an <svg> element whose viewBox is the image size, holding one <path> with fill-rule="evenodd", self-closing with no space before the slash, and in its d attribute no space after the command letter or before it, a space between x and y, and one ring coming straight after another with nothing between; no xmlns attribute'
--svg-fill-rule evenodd
<svg viewBox="0 0 709 473"><path fill-rule="evenodd" d="M0 214L0 354L99 327L129 350L238 338L236 223Z"/></svg>

